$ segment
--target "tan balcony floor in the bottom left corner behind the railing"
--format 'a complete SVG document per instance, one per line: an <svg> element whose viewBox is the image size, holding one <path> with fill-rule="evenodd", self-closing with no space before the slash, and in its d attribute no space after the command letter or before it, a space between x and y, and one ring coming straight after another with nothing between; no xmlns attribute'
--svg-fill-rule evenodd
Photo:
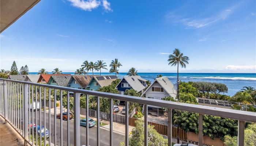
<svg viewBox="0 0 256 146"><path fill-rule="evenodd" d="M0 146L23 146L24 140L9 123L0 116Z"/></svg>

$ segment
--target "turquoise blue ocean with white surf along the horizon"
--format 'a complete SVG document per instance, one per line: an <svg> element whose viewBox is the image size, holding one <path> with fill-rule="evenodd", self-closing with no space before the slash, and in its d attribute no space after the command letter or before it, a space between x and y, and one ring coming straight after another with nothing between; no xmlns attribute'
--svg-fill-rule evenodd
<svg viewBox="0 0 256 146"><path fill-rule="evenodd" d="M64 73L64 72L63 72ZM37 74L31 72L30 74ZM69 73L74 74L74 73ZM89 75L92 74L89 72ZM94 73L99 74L99 73ZM127 73L119 73L118 78L123 78ZM138 73L139 76L146 80L154 81L157 74L166 76L175 84L177 80L177 73ZM114 75L113 73L101 73L101 75ZM237 91L241 90L244 86L252 86L256 88L256 73L179 73L179 80L181 81L207 81L207 82L220 82L226 84L228 92L226 95L233 96Z"/></svg>

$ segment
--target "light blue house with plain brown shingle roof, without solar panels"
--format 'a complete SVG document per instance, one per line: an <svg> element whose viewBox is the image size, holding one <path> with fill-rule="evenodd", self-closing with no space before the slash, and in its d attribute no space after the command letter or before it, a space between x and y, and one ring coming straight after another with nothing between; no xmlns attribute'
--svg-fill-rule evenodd
<svg viewBox="0 0 256 146"><path fill-rule="evenodd" d="M77 89L86 89L87 85L93 78L92 75L74 75L71 76L69 82L68 82L68 87L71 88L77 88Z"/></svg>

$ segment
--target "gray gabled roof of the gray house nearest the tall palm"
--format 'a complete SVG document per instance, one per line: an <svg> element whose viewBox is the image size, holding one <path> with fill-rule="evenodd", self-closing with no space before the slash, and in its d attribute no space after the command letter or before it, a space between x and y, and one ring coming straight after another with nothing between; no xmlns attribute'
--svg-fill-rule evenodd
<svg viewBox="0 0 256 146"><path fill-rule="evenodd" d="M177 91L172 82L167 77L159 77L154 80L154 82L147 88L147 90L155 83L158 82L163 89L169 94L169 96L176 97ZM144 92L146 93L147 90ZM144 94L143 93L143 94Z"/></svg>

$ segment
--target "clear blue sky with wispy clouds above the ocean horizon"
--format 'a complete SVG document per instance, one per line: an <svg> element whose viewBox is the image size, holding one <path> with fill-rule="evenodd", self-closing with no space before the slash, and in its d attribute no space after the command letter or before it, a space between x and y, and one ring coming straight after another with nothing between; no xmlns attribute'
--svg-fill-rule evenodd
<svg viewBox="0 0 256 146"><path fill-rule="evenodd" d="M256 72L255 0L42 0L1 33L0 68L74 72L114 58L138 72L176 72L168 54L190 58L181 72ZM103 72L107 72L103 70Z"/></svg>

